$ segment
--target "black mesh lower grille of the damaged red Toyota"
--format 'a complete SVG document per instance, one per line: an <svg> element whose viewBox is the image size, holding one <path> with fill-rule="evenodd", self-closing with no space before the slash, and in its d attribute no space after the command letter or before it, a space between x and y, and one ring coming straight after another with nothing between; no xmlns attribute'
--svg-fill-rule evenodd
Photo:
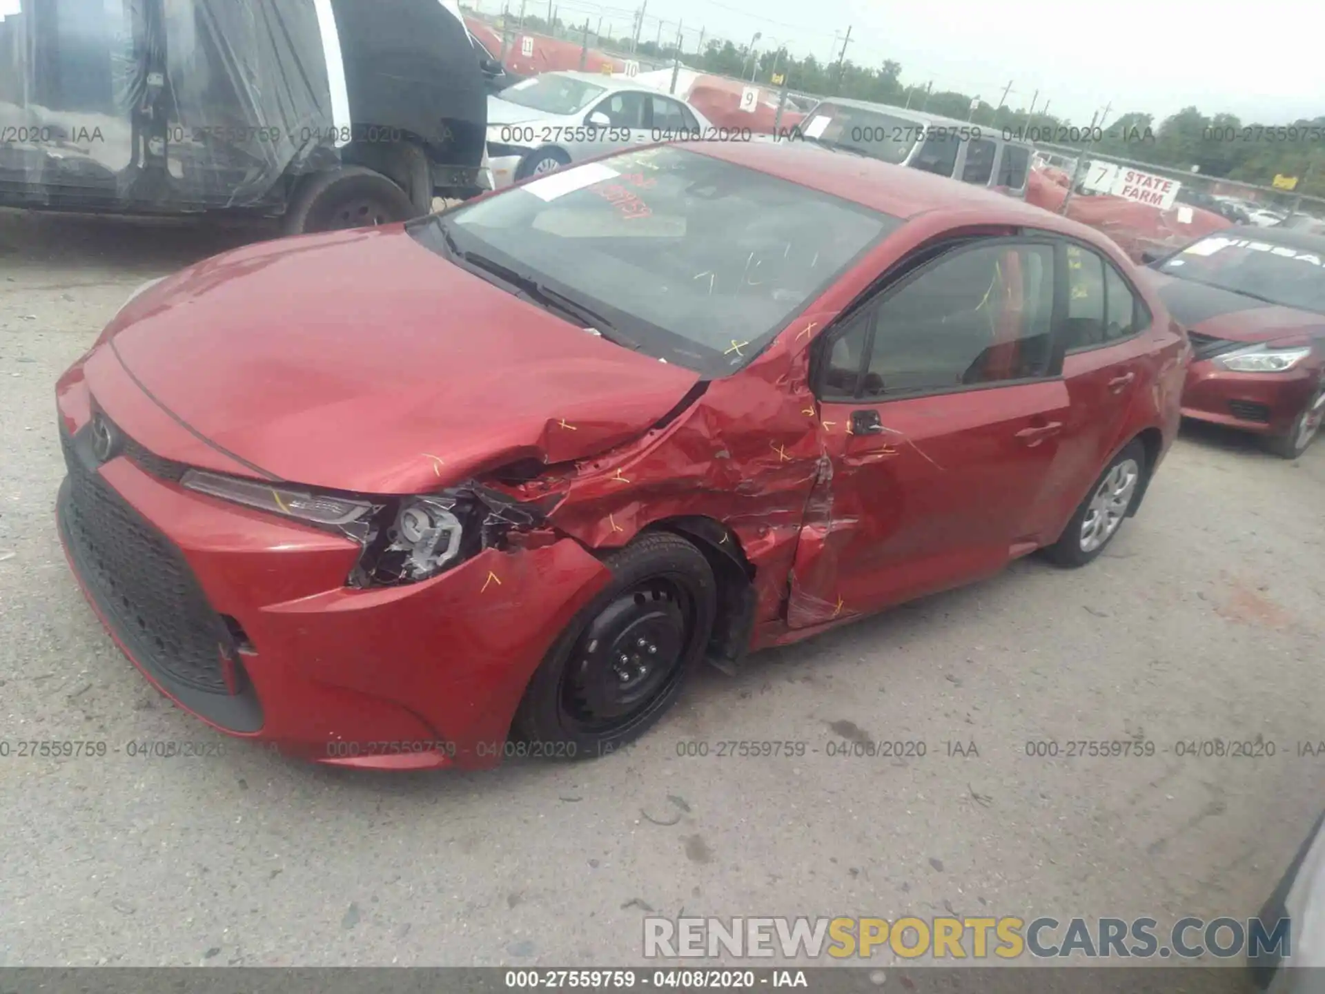
<svg viewBox="0 0 1325 994"><path fill-rule="evenodd" d="M170 539L132 509L64 432L69 486L60 521L78 573L115 634L150 669L228 694L229 636Z"/></svg>

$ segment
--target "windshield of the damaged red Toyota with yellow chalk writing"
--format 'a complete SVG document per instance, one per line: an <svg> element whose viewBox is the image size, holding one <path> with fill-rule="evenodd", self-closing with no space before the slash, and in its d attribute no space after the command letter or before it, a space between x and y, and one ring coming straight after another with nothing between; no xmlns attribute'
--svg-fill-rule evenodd
<svg viewBox="0 0 1325 994"><path fill-rule="evenodd" d="M449 254L481 274L492 264L521 274L519 289L541 302L551 290L604 338L722 376L901 224L655 147L562 170L413 231L440 253L449 237Z"/></svg>

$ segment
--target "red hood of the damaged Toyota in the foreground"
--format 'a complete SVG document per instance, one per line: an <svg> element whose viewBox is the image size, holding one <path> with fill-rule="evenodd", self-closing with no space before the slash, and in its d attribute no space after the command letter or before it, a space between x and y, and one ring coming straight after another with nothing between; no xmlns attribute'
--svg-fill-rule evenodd
<svg viewBox="0 0 1325 994"><path fill-rule="evenodd" d="M511 296L401 225L217 256L132 300L102 342L158 406L224 451L211 468L232 469L229 455L363 493L599 455L647 432L700 379ZM98 366L87 363L94 396ZM186 448L184 435L180 452L197 465L211 449L195 437Z"/></svg>

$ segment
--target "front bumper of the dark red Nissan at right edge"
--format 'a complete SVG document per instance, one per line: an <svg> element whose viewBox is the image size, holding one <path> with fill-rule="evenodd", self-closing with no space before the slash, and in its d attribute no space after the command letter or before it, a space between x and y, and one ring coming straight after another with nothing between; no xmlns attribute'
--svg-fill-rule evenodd
<svg viewBox="0 0 1325 994"><path fill-rule="evenodd" d="M1257 435L1284 435L1314 396L1318 371L1231 372L1215 359L1187 368L1182 416Z"/></svg>

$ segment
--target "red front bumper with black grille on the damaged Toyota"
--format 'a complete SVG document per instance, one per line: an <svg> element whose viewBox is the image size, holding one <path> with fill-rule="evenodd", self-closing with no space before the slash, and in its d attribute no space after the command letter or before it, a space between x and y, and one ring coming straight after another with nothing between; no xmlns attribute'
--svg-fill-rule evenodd
<svg viewBox="0 0 1325 994"><path fill-rule="evenodd" d="M85 595L158 690L231 736L341 766L493 766L553 640L608 580L563 539L350 588L354 541L186 490L140 449L98 465L81 378L58 400L60 535Z"/></svg>

